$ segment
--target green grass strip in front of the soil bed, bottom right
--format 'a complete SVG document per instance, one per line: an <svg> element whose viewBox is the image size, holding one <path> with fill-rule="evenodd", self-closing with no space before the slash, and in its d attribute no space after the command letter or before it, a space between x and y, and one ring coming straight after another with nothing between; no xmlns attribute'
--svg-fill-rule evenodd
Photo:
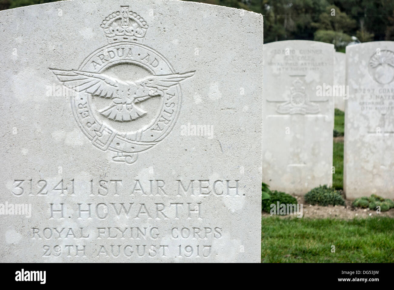
<svg viewBox="0 0 394 290"><path fill-rule="evenodd" d="M394 262L394 219L279 219L261 222L261 262ZM331 253L335 245L335 253Z"/></svg>

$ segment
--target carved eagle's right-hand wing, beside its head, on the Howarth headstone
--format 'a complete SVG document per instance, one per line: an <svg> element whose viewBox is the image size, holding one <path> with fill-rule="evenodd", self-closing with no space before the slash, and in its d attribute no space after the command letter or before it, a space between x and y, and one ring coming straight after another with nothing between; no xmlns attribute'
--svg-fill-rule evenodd
<svg viewBox="0 0 394 290"><path fill-rule="evenodd" d="M171 86L175 86L182 80L194 75L195 71L187 73L173 73L171 75L151 75L140 80L136 80L134 84L138 88L135 102L141 102L156 95L163 95L163 91Z"/></svg>

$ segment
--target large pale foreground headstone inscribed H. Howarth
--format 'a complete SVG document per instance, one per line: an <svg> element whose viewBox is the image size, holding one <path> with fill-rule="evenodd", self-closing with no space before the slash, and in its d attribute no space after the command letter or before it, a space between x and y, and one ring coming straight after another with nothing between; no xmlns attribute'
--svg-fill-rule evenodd
<svg viewBox="0 0 394 290"><path fill-rule="evenodd" d="M87 0L0 19L0 207L31 206L0 215L2 262L260 261L261 15Z"/></svg>

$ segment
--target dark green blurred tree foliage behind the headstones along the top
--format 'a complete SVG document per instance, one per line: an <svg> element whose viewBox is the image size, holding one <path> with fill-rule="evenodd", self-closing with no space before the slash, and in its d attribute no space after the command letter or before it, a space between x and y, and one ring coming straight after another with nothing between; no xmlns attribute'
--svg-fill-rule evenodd
<svg viewBox="0 0 394 290"><path fill-rule="evenodd" d="M0 9L56 0L0 0ZM336 49L359 41L394 40L393 0L200 0L264 15L264 42L305 39ZM335 9L333 15L332 9Z"/></svg>

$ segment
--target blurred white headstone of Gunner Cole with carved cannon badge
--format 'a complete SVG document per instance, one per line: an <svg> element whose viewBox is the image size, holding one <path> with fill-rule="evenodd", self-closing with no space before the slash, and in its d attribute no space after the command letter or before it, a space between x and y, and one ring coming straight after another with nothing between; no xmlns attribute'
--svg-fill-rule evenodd
<svg viewBox="0 0 394 290"><path fill-rule="evenodd" d="M264 45L263 182L304 195L332 184L334 46L316 41ZM320 90L318 90L320 86Z"/></svg>

